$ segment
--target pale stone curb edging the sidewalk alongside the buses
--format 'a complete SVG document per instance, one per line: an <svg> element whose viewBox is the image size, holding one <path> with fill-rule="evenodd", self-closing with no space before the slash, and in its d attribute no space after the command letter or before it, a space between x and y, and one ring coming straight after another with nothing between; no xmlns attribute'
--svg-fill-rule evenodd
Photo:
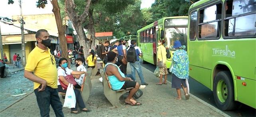
<svg viewBox="0 0 256 117"><path fill-rule="evenodd" d="M143 67L143 66L142 66L142 67ZM144 68L145 68L145 67L144 67ZM145 69L148 70L148 71L150 71L150 70L147 69L147 68L145 68ZM152 71L150 71L150 72L153 73ZM168 82L169 84L171 84L170 81L167 80L167 82ZM229 116L228 114L224 113L223 111L219 110L218 108L214 107L213 105L211 105L211 104L209 104L209 103L207 103L207 102L201 100L201 99L198 98L197 96L194 96L194 95L191 94L191 93L190 93L189 95L190 95L192 98L194 98L195 100L197 100L198 102L201 102L202 104L204 104L204 105L206 105L207 107L213 109L213 110L216 111L217 113L223 115L224 117L231 117L231 116Z"/></svg>

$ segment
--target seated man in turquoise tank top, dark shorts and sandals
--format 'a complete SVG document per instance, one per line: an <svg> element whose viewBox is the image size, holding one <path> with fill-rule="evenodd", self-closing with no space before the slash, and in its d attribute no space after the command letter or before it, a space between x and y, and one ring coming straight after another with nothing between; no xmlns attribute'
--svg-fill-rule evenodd
<svg viewBox="0 0 256 117"><path fill-rule="evenodd" d="M133 81L130 77L125 77L119 67L116 65L117 55L114 52L108 53L108 63L105 66L105 72L112 87L112 90L120 90L133 87L128 97L125 99L126 104L130 105L142 105L137 102L132 96L137 92L140 87L138 82Z"/></svg>

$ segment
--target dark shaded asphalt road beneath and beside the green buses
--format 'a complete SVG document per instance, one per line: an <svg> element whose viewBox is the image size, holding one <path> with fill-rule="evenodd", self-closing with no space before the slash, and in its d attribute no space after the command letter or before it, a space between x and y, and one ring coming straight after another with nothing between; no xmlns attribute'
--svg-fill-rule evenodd
<svg viewBox="0 0 256 117"><path fill-rule="evenodd" d="M149 69L150 71L154 72L156 69L155 65L152 65L150 63L142 64L143 67L146 69ZM167 77L168 81L171 81L171 75L169 74ZM214 98L213 98L213 92L207 88L206 86L203 86L199 82L195 81L193 78L190 77L189 79L190 83L190 92L200 98L201 100L204 100L205 102L215 106ZM234 111L223 111L224 113L236 117L236 116L243 116L243 117L256 117L256 109L249 107L247 105L242 104L240 109L234 110Z"/></svg>

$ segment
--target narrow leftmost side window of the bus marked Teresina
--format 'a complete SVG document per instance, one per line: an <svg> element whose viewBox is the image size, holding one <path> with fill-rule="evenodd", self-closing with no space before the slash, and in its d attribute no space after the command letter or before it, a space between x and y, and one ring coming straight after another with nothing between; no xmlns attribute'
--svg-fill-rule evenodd
<svg viewBox="0 0 256 117"><path fill-rule="evenodd" d="M190 15L189 40L195 40L197 35L197 11Z"/></svg>

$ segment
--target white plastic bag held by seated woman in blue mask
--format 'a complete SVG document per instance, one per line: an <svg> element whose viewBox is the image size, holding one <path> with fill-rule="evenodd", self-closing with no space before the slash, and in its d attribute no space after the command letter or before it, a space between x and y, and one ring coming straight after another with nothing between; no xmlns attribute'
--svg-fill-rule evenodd
<svg viewBox="0 0 256 117"><path fill-rule="evenodd" d="M75 91L73 89L73 84L69 83L69 86L67 86L67 92L66 92L63 107L74 108L75 104L76 104Z"/></svg>

